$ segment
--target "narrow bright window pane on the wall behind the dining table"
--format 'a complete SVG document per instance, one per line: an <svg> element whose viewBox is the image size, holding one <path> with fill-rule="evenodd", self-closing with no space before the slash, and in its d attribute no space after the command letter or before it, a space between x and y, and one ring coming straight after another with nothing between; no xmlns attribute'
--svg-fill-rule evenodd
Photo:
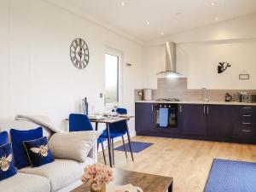
<svg viewBox="0 0 256 192"><path fill-rule="evenodd" d="M119 55L105 54L105 105L119 102Z"/></svg>

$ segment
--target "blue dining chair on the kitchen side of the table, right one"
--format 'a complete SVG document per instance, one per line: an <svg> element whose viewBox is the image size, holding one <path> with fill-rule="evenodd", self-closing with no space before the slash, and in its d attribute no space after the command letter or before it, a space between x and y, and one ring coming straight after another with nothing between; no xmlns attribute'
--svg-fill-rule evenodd
<svg viewBox="0 0 256 192"><path fill-rule="evenodd" d="M117 108L116 112L119 114L127 114L127 110L125 108ZM134 161L132 149L131 149L131 137L128 130L127 121L122 120L113 124L109 124L109 137L111 138L111 143L112 143L112 154L113 154L113 139L117 137L122 137L123 145L125 149L125 156L127 159L127 151L125 148L125 138L124 138L125 134L127 134L127 137L128 137L129 147L131 151L131 160ZM108 137L106 130L103 131L102 137L106 137L106 138ZM113 165L114 165L114 155L113 155Z"/></svg>

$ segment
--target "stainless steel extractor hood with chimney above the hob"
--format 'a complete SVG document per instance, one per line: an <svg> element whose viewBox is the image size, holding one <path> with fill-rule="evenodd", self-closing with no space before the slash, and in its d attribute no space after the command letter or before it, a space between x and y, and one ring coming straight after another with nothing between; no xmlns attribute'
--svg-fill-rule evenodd
<svg viewBox="0 0 256 192"><path fill-rule="evenodd" d="M165 75L166 77L178 77L181 74L176 71L176 44L166 42L166 70L157 75Z"/></svg>

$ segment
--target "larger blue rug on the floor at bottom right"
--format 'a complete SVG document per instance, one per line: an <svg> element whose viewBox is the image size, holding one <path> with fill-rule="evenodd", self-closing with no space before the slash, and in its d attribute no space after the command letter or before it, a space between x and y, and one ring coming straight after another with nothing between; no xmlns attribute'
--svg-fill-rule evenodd
<svg viewBox="0 0 256 192"><path fill-rule="evenodd" d="M213 160L204 191L256 192L256 163Z"/></svg>

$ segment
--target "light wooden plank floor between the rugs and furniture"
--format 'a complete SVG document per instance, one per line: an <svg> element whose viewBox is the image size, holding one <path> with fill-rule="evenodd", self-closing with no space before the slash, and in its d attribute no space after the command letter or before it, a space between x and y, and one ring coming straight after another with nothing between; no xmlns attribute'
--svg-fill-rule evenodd
<svg viewBox="0 0 256 192"><path fill-rule="evenodd" d="M126 160L124 152L115 151L115 167L173 177L174 192L202 192L214 158L256 162L256 145L160 137L133 137L132 141L154 145L135 154L135 162L131 155ZM99 161L103 163L101 152Z"/></svg>

